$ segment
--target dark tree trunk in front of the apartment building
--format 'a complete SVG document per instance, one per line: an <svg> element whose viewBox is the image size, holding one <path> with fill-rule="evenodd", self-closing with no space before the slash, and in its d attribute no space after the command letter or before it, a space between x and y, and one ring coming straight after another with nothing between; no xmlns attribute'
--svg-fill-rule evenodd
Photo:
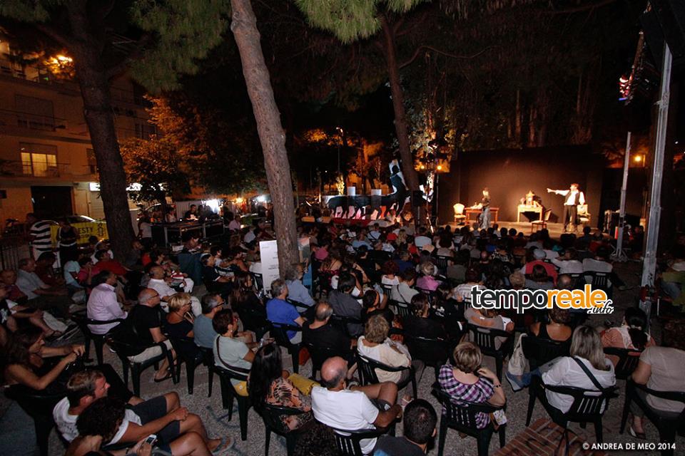
<svg viewBox="0 0 685 456"><path fill-rule="evenodd" d="M126 172L116 138L109 81L86 14L85 10L69 9L71 33L76 38L76 44L69 51L73 55L83 115L98 165L107 232L114 257L123 259L131 251L136 236L128 209Z"/></svg>

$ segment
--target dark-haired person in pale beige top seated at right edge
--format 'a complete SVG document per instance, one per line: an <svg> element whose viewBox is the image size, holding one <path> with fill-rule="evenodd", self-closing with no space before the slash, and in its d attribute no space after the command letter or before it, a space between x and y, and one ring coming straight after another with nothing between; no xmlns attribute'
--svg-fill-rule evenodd
<svg viewBox="0 0 685 456"><path fill-rule="evenodd" d="M685 376L682 366L685 366L685 335L675 324L667 323L664 328L664 341L668 346L648 346L640 356L640 362L632 374L632 379L639 385L656 391L685 391ZM635 390L643 403L659 415L674 418L683 411L683 403L674 400L656 398L654 395L645 394L641 390ZM630 411L633 415L629 427L630 435L644 439L643 415L644 412L635 403L631 404Z"/></svg>

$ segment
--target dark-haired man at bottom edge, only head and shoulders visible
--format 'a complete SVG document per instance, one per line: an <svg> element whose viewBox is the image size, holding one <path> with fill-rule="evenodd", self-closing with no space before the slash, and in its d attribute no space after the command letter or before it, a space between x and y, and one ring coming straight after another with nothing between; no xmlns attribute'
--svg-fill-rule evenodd
<svg viewBox="0 0 685 456"><path fill-rule="evenodd" d="M425 399L407 405L402 418L403 437L383 435L373 448L373 456L423 456L437 435L437 413Z"/></svg>

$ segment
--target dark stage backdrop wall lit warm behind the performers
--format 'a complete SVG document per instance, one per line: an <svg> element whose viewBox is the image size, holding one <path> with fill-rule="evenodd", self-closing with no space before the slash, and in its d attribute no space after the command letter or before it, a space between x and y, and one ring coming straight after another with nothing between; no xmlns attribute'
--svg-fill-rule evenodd
<svg viewBox="0 0 685 456"><path fill-rule="evenodd" d="M440 220L452 222L457 202L467 207L480 202L483 187L489 187L492 207L499 207L499 220L515 222L519 200L529 190L542 197L546 209L552 209L552 219L561 219L564 197L548 194L547 187L566 190L577 182L589 204L592 226L597 227L603 170L604 157L589 147L461 152L450 174L440 175Z"/></svg>

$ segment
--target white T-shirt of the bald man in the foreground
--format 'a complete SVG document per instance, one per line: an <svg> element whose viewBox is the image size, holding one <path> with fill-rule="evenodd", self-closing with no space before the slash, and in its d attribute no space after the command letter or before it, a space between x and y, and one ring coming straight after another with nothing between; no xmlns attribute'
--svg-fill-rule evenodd
<svg viewBox="0 0 685 456"><path fill-rule="evenodd" d="M361 391L329 391L321 386L312 388L312 411L321 423L338 429L374 429L373 422L380 411ZM373 450L376 439L362 439L362 452Z"/></svg>

